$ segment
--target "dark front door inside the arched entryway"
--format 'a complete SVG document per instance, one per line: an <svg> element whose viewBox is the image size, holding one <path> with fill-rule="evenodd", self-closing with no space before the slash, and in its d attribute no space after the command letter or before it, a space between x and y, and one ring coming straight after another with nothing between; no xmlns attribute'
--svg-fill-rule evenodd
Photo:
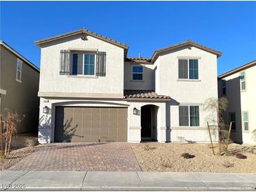
<svg viewBox="0 0 256 192"><path fill-rule="evenodd" d="M144 139L151 138L151 107L144 106L141 109L141 137Z"/></svg>

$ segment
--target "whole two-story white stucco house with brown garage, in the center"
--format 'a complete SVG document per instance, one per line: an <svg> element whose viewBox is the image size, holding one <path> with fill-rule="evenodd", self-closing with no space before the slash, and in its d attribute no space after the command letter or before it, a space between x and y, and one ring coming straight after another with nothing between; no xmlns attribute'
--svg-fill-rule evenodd
<svg viewBox="0 0 256 192"><path fill-rule="evenodd" d="M217 113L203 103L217 99L219 51L189 40L127 57L127 45L84 28L36 44L39 142L210 141Z"/></svg>

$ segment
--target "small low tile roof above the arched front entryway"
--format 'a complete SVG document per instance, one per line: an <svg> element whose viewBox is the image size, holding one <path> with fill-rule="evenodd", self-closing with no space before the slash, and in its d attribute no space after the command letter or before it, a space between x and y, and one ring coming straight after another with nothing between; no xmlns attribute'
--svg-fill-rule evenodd
<svg viewBox="0 0 256 192"><path fill-rule="evenodd" d="M158 95L154 90L123 90L124 99L158 99L158 100L170 100L168 95Z"/></svg>

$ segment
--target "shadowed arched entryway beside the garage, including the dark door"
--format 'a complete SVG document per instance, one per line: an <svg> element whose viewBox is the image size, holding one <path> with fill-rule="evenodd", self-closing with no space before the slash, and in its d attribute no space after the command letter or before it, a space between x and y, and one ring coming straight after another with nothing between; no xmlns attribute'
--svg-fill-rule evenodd
<svg viewBox="0 0 256 192"><path fill-rule="evenodd" d="M147 104L141 107L141 140L157 141L157 114L159 107L153 104Z"/></svg>

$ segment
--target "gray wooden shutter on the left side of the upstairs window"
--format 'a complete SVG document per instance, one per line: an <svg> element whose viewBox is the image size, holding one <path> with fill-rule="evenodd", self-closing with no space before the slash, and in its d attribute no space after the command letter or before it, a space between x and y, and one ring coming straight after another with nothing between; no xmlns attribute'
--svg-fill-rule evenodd
<svg viewBox="0 0 256 192"><path fill-rule="evenodd" d="M69 75L71 65L70 50L60 50L60 75Z"/></svg>

